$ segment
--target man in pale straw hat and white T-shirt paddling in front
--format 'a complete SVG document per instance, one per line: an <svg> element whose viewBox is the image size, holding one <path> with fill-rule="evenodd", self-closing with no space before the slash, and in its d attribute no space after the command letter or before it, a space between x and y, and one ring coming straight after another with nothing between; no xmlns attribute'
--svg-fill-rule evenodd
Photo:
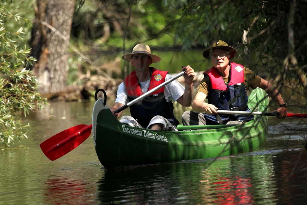
<svg viewBox="0 0 307 205"><path fill-rule="evenodd" d="M168 71L149 67L150 64L160 61L161 58L151 54L150 47L145 44L134 46L132 53L122 56L122 59L130 62L135 70L119 85L115 103L111 108L113 113L125 105L128 100L134 100L171 78ZM183 67L182 71L184 70L185 87L176 80L170 82L154 94L131 105L131 116L123 116L120 122L152 130L175 131L179 122L173 114L172 99L186 107L192 102L192 80L195 73L190 66ZM117 119L121 115L122 112L115 113Z"/></svg>

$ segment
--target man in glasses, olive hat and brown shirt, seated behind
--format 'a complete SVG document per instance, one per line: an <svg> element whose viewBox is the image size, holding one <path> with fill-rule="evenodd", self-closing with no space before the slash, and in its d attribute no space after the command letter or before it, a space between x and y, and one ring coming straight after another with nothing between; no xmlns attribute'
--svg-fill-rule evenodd
<svg viewBox="0 0 307 205"><path fill-rule="evenodd" d="M270 82L264 80L244 66L231 62L237 51L224 41L218 40L203 52L204 58L212 61L213 67L204 72L196 96L192 102L193 110L182 115L184 125L241 124L254 119L247 115L217 114L217 109L250 111L247 107L245 86L266 90L280 107L276 112L279 119L287 115L287 104ZM239 97L238 97L239 96ZM204 102L208 98L208 103Z"/></svg>

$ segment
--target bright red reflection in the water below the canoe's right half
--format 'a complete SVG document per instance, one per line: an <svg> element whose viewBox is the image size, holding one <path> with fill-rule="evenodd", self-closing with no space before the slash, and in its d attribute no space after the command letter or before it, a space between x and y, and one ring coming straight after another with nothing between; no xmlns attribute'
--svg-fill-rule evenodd
<svg viewBox="0 0 307 205"><path fill-rule="evenodd" d="M249 188L252 187L251 179L235 177L235 178L220 178L219 181L214 182L217 191L217 200L214 203L218 204L246 204L253 203L254 199Z"/></svg>

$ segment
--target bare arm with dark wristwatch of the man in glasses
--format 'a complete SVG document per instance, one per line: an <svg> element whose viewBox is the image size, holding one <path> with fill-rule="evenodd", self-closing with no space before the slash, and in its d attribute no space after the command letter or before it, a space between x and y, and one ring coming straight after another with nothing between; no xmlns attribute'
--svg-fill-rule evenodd
<svg viewBox="0 0 307 205"><path fill-rule="evenodd" d="M282 99L281 94L278 93L278 90L274 89L272 84L270 82L266 81L265 79L261 78L261 81L260 81L260 84L259 84L258 87L265 90L266 93L278 103L278 105L282 105L282 104L286 103L284 101L284 99ZM287 116L287 108L286 107L279 107L277 110L275 110L273 112L276 112L278 114L278 116L277 116L278 119L283 119L283 118L286 118L286 116Z"/></svg>

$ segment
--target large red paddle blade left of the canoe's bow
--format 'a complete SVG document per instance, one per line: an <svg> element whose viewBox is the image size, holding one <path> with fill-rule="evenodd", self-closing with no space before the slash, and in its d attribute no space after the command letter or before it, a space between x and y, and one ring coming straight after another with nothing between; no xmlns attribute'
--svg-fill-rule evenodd
<svg viewBox="0 0 307 205"><path fill-rule="evenodd" d="M41 150L50 160L56 160L72 151L91 135L92 125L77 125L64 130L41 143Z"/></svg>

